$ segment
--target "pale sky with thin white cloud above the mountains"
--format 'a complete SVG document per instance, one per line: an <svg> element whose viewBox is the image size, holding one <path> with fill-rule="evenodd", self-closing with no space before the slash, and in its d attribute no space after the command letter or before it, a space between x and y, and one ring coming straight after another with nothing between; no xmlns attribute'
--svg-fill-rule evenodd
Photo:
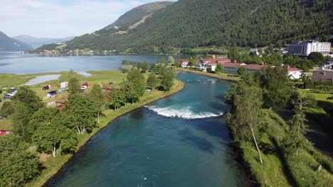
<svg viewBox="0 0 333 187"><path fill-rule="evenodd" d="M136 6L162 0L0 0L0 31L14 37L93 33Z"/></svg>

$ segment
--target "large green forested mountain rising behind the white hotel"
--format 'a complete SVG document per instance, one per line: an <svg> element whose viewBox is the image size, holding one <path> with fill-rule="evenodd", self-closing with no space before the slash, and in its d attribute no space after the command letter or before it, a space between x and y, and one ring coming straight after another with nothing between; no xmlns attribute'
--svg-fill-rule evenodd
<svg viewBox="0 0 333 187"><path fill-rule="evenodd" d="M138 19L119 27L116 21L70 40L65 48L165 53L186 47L262 47L333 33L332 10L331 0L179 0L149 13L138 26L132 27Z"/></svg>

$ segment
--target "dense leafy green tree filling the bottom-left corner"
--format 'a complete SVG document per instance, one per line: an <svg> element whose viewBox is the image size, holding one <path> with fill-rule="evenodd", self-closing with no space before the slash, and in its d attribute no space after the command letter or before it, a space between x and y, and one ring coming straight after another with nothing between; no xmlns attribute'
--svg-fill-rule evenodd
<svg viewBox="0 0 333 187"><path fill-rule="evenodd" d="M41 174L38 157L16 135L0 137L0 186L24 186Z"/></svg>

